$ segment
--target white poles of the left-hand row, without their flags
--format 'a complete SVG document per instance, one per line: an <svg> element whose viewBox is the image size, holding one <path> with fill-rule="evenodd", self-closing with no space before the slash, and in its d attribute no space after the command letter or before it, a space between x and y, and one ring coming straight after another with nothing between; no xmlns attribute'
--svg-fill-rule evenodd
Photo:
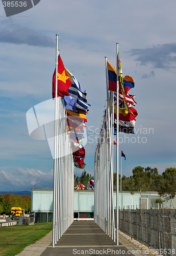
<svg viewBox="0 0 176 256"><path fill-rule="evenodd" d="M56 70L58 74L58 34L56 35ZM60 67L59 67L60 68ZM55 77L56 91L58 76ZM73 222L74 166L67 131L63 99L55 97L55 141L54 141L54 182L53 182L53 241L54 247L65 230Z"/></svg>

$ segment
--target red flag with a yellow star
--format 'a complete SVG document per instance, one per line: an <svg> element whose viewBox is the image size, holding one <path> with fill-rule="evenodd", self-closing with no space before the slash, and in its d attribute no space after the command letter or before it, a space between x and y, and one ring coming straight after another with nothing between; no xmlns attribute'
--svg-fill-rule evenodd
<svg viewBox="0 0 176 256"><path fill-rule="evenodd" d="M53 98L55 98L55 83L56 83L56 69L53 74ZM62 59L59 55L58 58L58 97L69 96L68 89L71 86L72 82L70 81L65 67L63 65Z"/></svg>

